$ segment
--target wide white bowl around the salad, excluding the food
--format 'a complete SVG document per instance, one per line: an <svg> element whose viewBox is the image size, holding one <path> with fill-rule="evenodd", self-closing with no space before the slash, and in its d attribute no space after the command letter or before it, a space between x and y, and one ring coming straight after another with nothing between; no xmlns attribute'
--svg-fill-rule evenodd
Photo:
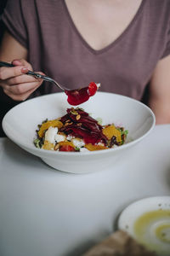
<svg viewBox="0 0 170 256"><path fill-rule="evenodd" d="M103 125L122 124L133 141L117 148L89 152L58 152L38 149L33 144L37 125L44 119L56 119L71 108L65 93L55 93L22 102L8 111L3 118L3 131L21 148L39 156L49 166L64 172L94 172L111 166L146 137L155 125L154 113L143 103L127 96L97 92L88 102L80 105L94 118L101 118Z"/></svg>

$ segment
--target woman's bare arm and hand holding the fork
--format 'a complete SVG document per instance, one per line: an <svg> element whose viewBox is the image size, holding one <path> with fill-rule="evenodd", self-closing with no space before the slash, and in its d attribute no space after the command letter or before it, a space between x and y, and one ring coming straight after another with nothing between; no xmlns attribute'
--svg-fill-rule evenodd
<svg viewBox="0 0 170 256"><path fill-rule="evenodd" d="M27 49L10 33L5 32L0 47L0 61L12 62L16 67L0 67L0 86L14 101L26 100L42 84L42 79L35 79L25 74L28 69L32 70L26 58Z"/></svg>

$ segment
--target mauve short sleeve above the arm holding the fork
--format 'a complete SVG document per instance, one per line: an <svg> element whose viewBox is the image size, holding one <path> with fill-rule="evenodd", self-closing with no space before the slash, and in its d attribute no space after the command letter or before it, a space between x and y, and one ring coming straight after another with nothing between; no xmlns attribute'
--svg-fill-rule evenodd
<svg viewBox="0 0 170 256"><path fill-rule="evenodd" d="M1 19L7 27L8 32L27 49L27 30L22 0L8 0Z"/></svg>

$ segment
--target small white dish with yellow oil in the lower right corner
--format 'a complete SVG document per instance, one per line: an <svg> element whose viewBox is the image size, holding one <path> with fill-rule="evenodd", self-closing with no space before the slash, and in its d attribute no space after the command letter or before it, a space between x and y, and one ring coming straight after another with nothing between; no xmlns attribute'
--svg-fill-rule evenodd
<svg viewBox="0 0 170 256"><path fill-rule="evenodd" d="M160 256L170 255L170 196L156 196L133 202L125 208L118 229Z"/></svg>

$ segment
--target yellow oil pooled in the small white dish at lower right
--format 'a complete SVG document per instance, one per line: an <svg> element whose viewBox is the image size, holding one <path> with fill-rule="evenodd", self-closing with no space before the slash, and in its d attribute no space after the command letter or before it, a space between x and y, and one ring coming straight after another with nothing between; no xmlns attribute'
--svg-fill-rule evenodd
<svg viewBox="0 0 170 256"><path fill-rule="evenodd" d="M170 210L145 212L134 223L134 236L160 256L170 256Z"/></svg>

